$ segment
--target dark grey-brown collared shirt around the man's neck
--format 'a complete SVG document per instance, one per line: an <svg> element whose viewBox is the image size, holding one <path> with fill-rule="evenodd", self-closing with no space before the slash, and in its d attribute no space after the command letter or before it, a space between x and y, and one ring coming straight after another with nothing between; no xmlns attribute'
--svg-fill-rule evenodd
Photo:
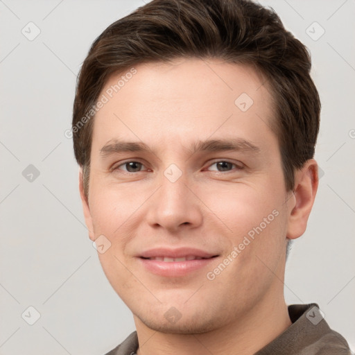
<svg viewBox="0 0 355 355"><path fill-rule="evenodd" d="M322 317L318 304L288 306L291 326L254 355L351 355L347 341L331 330ZM106 355L135 355L137 331Z"/></svg>

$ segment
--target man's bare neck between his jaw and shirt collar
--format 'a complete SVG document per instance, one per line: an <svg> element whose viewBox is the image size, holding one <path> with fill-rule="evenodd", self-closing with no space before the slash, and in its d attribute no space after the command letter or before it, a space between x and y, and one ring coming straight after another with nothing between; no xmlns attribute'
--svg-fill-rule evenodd
<svg viewBox="0 0 355 355"><path fill-rule="evenodd" d="M274 293L271 293L274 296ZM284 296L256 304L248 314L204 334L166 334L149 329L135 316L137 355L251 355L277 338L290 325Z"/></svg>

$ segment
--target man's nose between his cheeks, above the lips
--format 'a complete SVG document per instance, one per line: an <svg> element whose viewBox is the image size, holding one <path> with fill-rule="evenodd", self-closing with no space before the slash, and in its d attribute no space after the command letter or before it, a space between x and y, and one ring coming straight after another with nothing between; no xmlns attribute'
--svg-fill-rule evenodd
<svg viewBox="0 0 355 355"><path fill-rule="evenodd" d="M150 198L147 220L152 227L177 233L202 223L202 202L184 174L175 182L162 175L161 184Z"/></svg>

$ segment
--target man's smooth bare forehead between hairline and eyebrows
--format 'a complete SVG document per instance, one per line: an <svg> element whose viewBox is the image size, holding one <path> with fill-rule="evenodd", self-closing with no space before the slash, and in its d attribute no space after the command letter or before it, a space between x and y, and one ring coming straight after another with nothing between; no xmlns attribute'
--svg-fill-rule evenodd
<svg viewBox="0 0 355 355"><path fill-rule="evenodd" d="M103 97L93 143L128 137L191 143L196 136L215 133L270 131L272 107L265 78L250 66L223 60L139 64L112 75L99 100Z"/></svg>

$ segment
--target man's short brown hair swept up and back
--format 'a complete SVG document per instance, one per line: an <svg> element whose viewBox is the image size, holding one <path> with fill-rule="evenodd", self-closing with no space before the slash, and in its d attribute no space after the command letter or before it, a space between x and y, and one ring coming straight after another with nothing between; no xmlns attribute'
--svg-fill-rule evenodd
<svg viewBox="0 0 355 355"><path fill-rule="evenodd" d="M313 157L319 130L320 98L306 47L286 31L274 10L252 1L153 0L107 27L80 70L72 130L85 195L94 120L87 115L108 78L137 64L177 58L251 64L266 76L285 186L293 189L295 169Z"/></svg>

